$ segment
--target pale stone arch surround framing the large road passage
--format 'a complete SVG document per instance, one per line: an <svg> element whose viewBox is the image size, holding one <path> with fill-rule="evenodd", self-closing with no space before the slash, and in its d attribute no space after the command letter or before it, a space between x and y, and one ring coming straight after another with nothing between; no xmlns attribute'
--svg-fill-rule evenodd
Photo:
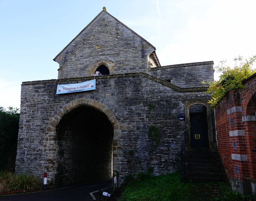
<svg viewBox="0 0 256 201"><path fill-rule="evenodd" d="M118 136L120 136L120 133L121 133L120 131L121 125L117 122L114 114L105 105L92 99L79 98L77 100L69 102L68 104L64 105L61 109L59 109L56 115L53 116L52 119L50 119L51 121L47 126L47 129L46 129L47 132L45 133L47 137L45 137L45 142L43 145L47 150L46 151L47 159L46 161L44 161L44 169L48 173L47 179L50 185L56 185L56 181L58 181L58 178L56 178L56 176L60 177L60 173L61 173L60 166L58 167L58 165L60 164L60 157L63 157L63 154L62 155L60 154L60 151L62 151L63 148L61 148L60 137L58 138L58 135L60 135L58 134L60 123L62 122L63 124L63 119L67 117L67 114L70 114L72 113L72 111L75 111L75 110L77 111L78 108L79 109L91 108L90 110L95 112L98 111L97 113L99 114L101 113L101 115L105 116L105 118L109 121L109 124L113 129L113 136L112 136L113 143L111 145L112 146L111 151L113 151L114 158L111 158L111 163L117 164L117 162L115 162L116 160L115 156L117 155L115 151L116 151L116 146L118 145L117 138ZM64 124L66 123L67 122L65 122ZM113 168L116 169L117 167L116 166L113 167L113 165L111 166L111 170L108 170L108 171L111 171L111 174L112 174ZM64 174L68 174L68 173L64 171ZM81 182L81 181L77 181L77 182ZM61 183L60 185L67 185L67 184L68 182L66 183L64 182L64 183Z"/></svg>

